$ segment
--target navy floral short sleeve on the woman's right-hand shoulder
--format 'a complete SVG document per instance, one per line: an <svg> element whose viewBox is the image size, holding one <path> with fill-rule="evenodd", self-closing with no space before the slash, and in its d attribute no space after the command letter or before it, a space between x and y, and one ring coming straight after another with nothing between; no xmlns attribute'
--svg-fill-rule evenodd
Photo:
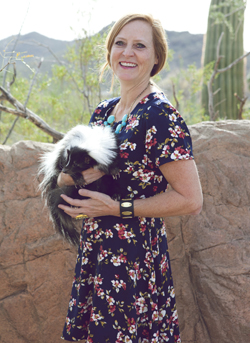
<svg viewBox="0 0 250 343"><path fill-rule="evenodd" d="M145 149L157 167L168 162L193 159L190 132L180 113L171 104L159 100L144 115Z"/></svg>

